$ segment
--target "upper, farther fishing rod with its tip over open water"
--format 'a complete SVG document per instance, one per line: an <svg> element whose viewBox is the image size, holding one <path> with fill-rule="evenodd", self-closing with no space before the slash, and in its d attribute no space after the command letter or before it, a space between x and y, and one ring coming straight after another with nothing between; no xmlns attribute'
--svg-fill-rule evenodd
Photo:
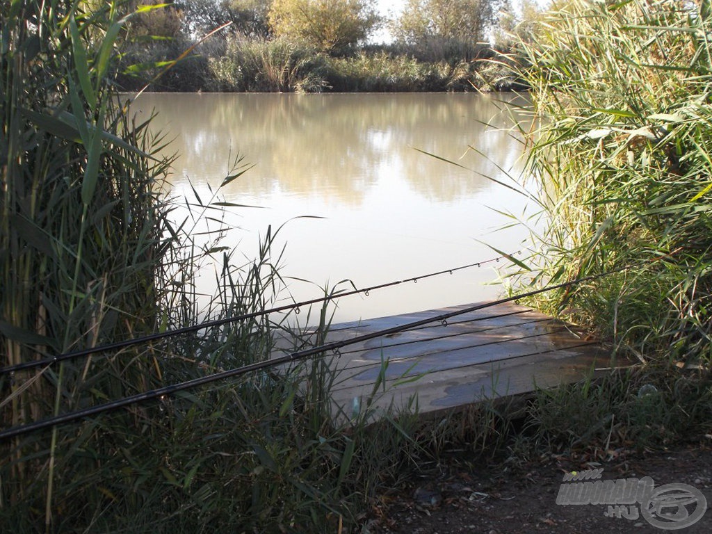
<svg viewBox="0 0 712 534"><path fill-rule="evenodd" d="M522 253L522 251L516 251L513 254L521 254L521 253ZM392 286L397 286L402 283L408 283L408 282L417 283L419 280L424 280L425 278L431 278L432 276L440 276L440 275L446 274L446 273L452 274L455 271L462 271L463 269L468 269L468 268L472 268L472 267L480 267L480 266L486 265L487 263L494 263L494 262L498 263L499 261L501 261L503 259L511 260L511 259L513 259L512 258L513 254L503 253L502 256L498 256L496 258L491 258L491 259L488 259L485 261L478 261L477 263L469 263L468 265L455 267L455 268L451 268L451 269L444 269L443 271L437 271L435 273L429 273L429 274L425 274L425 275L421 275L421 276L414 276L412 278L405 278L404 280L381 283L381 284L378 284L377 286L371 286L369 288L357 289L354 286L353 290L340 292L340 293L333 293L331 295L325 295L324 297L320 297L320 298L304 300L303 302L299 302L299 303L291 303L291 304L278 306L277 308L271 308L268 310L261 310L261 311L256 311L256 312L252 312L252 313L246 313L244 315L234 315L232 317L226 317L226 318L222 318L222 319L206 321L205 323L199 323L197 325L185 326L183 328L177 328L175 330L167 330L166 332L158 332L158 333L148 334L148 335L144 335L141 337L134 337L134 338L128 339L128 340L108 343L107 345L100 345L99 347L90 347L87 349L76 350L73 352L65 352L64 354L60 354L60 355L56 355L56 356L48 356L48 357L42 358L41 360L33 360L31 362L23 362L23 363L19 363L19 364L15 364L15 365L7 365L6 367L0 367L0 375L4 375L6 373L11 373L11 372L16 372L16 371L22 371L22 370L26 370L26 369L33 369L34 367L42 367L43 365L53 365L58 362L66 362L67 360L74 360L75 358L96 354L98 352L110 352L110 351L122 349L125 347L131 347L132 345L140 345L142 343L147 343L150 341L162 340L162 339L165 339L166 337L175 337L178 335L193 333L193 332L197 332L197 330L203 330L204 328L213 328L216 326L222 326L222 325L226 325L229 323L237 323L242 320L249 320L249 319L254 319L254 318L258 318L258 317L263 317L263 316L269 315L271 313L279 313L279 312L288 311L288 310L299 310L299 308L302 308L303 306L324 303L324 302L328 302L330 300L334 300L335 298L349 297L351 295L357 295L358 293L363 293L364 295L368 296L371 291L375 291L375 290L379 290L379 289L383 289L383 288L389 288ZM516 261L515 261L515 263L516 263Z"/></svg>

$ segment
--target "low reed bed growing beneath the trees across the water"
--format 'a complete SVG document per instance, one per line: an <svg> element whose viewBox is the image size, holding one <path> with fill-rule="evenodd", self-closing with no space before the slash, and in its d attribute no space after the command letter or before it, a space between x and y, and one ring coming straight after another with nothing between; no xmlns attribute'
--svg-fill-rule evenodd
<svg viewBox="0 0 712 534"><path fill-rule="evenodd" d="M118 68L125 90L140 90L179 56L180 39L151 47L131 46ZM216 92L417 92L466 91L486 85L477 73L488 66L486 53L473 57L436 55L426 60L414 51L373 46L348 56L328 56L285 38L268 41L215 37L155 81L155 90ZM431 54L432 56L432 54Z"/></svg>

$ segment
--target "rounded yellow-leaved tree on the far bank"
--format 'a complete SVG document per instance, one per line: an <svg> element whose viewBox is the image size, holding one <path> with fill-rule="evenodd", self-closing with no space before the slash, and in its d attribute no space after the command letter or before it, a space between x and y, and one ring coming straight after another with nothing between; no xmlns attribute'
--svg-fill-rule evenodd
<svg viewBox="0 0 712 534"><path fill-rule="evenodd" d="M277 36L342 53L376 28L375 0L274 0L269 23Z"/></svg>

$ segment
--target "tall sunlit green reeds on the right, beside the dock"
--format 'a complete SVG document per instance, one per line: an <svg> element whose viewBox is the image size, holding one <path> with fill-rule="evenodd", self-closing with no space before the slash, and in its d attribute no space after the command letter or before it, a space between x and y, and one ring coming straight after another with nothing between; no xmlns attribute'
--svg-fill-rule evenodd
<svg viewBox="0 0 712 534"><path fill-rule="evenodd" d="M709 365L710 4L575 0L520 43L548 220L524 283L625 269L539 305L641 360Z"/></svg>

